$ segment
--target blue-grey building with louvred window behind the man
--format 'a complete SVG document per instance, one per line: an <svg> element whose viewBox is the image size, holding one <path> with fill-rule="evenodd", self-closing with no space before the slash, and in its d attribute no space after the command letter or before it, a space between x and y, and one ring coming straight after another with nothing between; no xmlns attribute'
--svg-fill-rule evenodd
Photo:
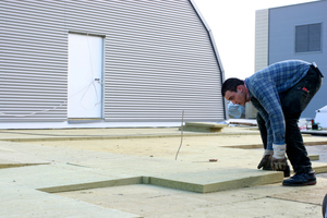
<svg viewBox="0 0 327 218"><path fill-rule="evenodd" d="M316 62L327 76L327 1L256 11L255 71L288 59ZM327 105L327 84L303 111L314 118Z"/></svg>

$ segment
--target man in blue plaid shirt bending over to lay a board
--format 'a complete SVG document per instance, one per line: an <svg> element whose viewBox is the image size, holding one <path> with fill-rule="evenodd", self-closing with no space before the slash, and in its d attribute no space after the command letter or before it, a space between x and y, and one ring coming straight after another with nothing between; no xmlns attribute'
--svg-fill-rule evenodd
<svg viewBox="0 0 327 218"><path fill-rule="evenodd" d="M227 100L242 106L251 101L258 110L265 145L258 168L270 160L272 170L287 171L287 153L295 174L283 185L316 184L298 120L320 88L322 77L314 64L289 60L271 64L245 81L229 78L222 84L221 94Z"/></svg>

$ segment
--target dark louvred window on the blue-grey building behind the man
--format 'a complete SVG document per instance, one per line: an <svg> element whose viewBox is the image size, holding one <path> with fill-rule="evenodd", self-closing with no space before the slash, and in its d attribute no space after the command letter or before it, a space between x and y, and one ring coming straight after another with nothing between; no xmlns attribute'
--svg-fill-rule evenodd
<svg viewBox="0 0 327 218"><path fill-rule="evenodd" d="M295 52L322 50L322 24L295 26Z"/></svg>

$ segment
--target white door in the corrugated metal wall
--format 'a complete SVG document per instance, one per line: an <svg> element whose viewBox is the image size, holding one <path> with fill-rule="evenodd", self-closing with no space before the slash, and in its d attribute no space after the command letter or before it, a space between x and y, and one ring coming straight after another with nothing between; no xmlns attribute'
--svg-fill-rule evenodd
<svg viewBox="0 0 327 218"><path fill-rule="evenodd" d="M69 34L69 119L102 117L102 37Z"/></svg>

